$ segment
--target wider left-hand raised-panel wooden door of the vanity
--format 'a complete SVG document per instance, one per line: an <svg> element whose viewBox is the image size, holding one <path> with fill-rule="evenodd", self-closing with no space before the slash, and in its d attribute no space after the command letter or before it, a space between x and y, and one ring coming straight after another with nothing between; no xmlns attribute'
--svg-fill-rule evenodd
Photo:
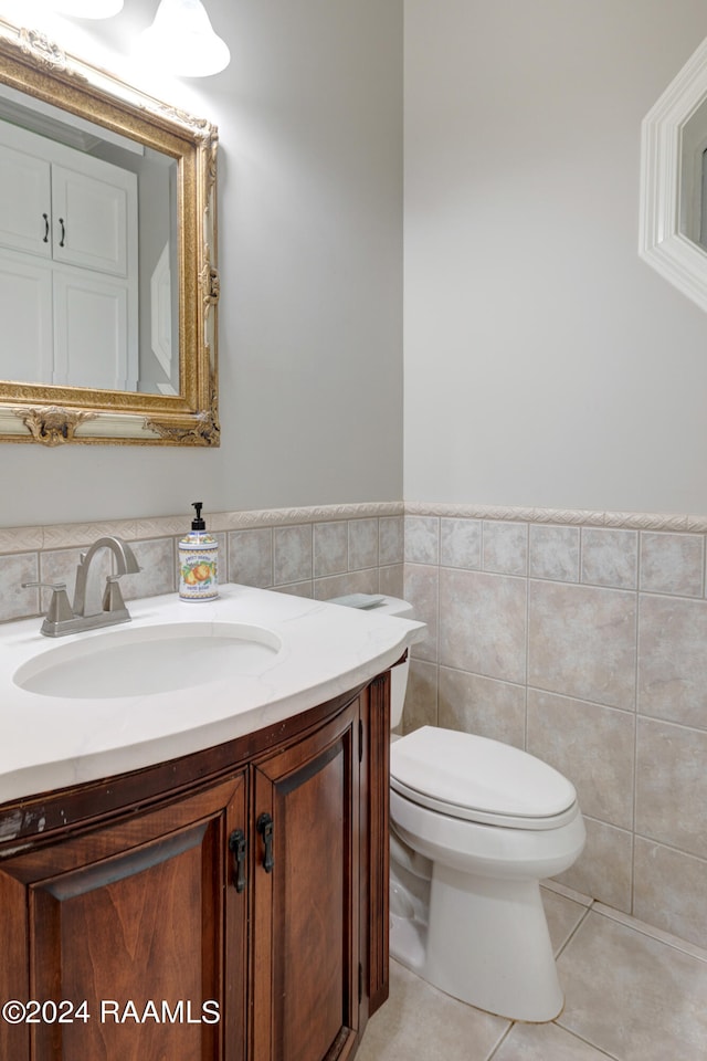
<svg viewBox="0 0 707 1061"><path fill-rule="evenodd" d="M229 839L246 787L239 774L0 863L0 994L49 1002L0 1023L0 1057L243 1061L247 891Z"/></svg>

